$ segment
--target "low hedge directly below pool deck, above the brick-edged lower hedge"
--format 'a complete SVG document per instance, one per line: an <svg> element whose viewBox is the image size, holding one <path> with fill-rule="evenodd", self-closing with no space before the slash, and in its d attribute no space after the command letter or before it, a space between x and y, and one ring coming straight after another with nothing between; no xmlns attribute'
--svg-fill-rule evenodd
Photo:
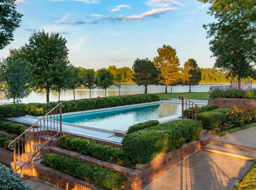
<svg viewBox="0 0 256 190"><path fill-rule="evenodd" d="M71 135L60 137L59 147L71 151L77 151L86 156L92 156L102 161L131 167L131 162L122 148L111 145L96 144L92 140L77 138Z"/></svg>

